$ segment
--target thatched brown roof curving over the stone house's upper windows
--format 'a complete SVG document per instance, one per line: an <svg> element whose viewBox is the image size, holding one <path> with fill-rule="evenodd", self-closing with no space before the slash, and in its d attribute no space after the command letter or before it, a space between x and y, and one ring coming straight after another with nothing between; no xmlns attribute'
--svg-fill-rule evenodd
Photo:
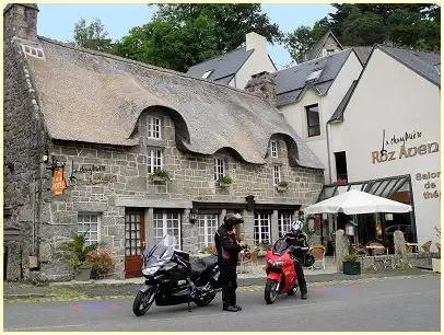
<svg viewBox="0 0 444 335"><path fill-rule="evenodd" d="M45 59L26 62L52 139L136 146L140 114L164 106L178 115L185 150L213 154L234 149L246 162L264 164L269 139L280 134L294 165L324 169L278 109L265 99L213 81L44 37Z"/></svg>

